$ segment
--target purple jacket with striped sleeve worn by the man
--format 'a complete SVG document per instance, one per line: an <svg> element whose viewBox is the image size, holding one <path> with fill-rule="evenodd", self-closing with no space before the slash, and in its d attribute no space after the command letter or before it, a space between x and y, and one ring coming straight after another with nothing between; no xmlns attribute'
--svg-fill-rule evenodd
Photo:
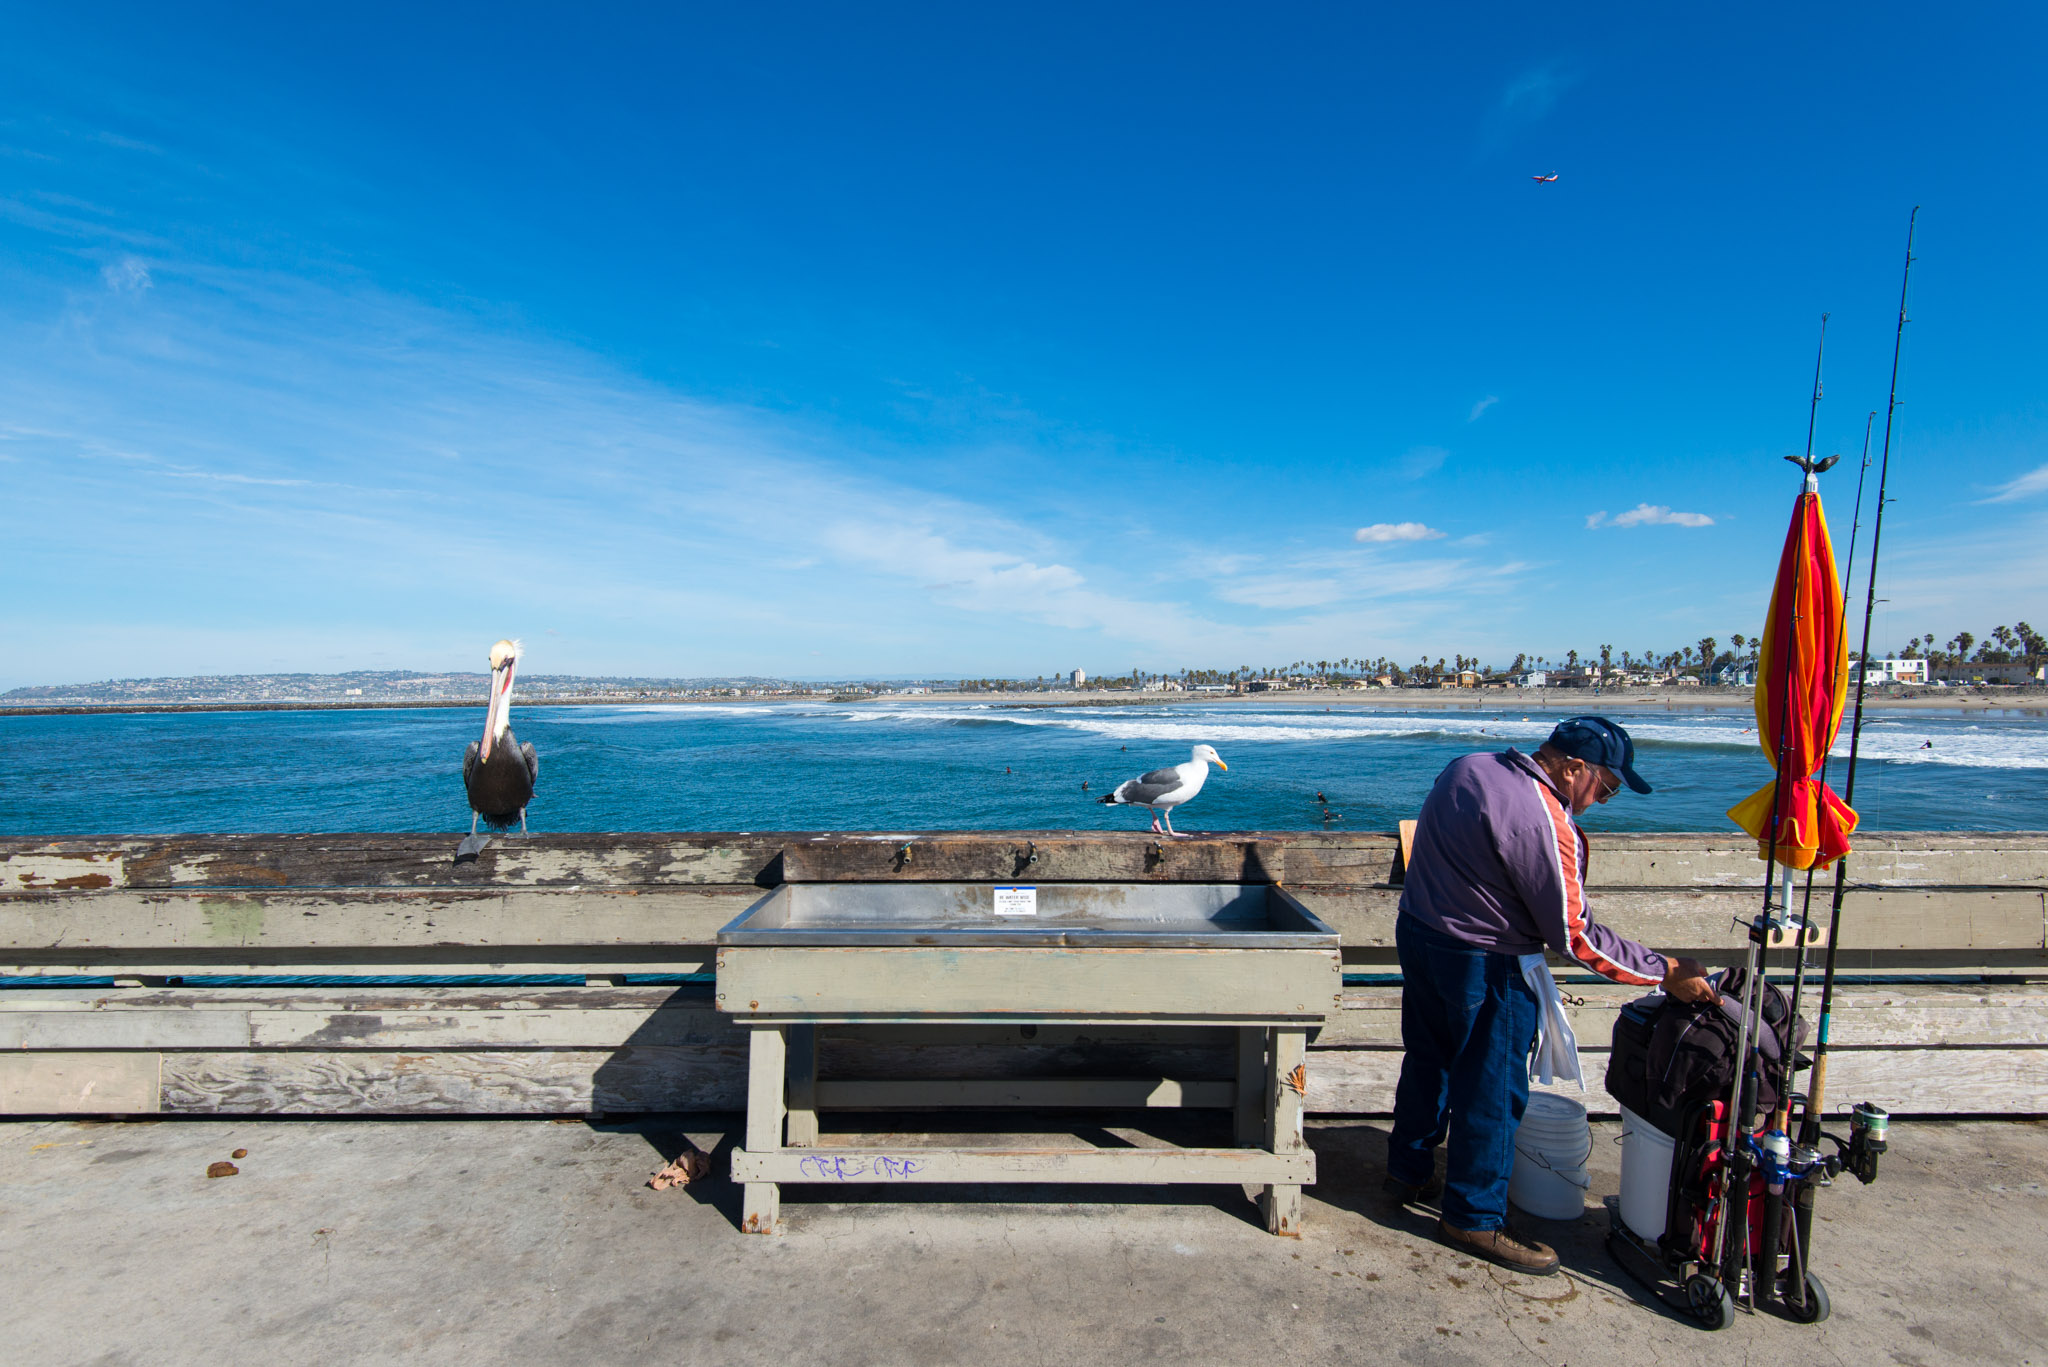
<svg viewBox="0 0 2048 1367"><path fill-rule="evenodd" d="M1432 930L1505 955L1544 945L1602 978L1663 982L1663 955L1585 910L1585 832L1536 760L1466 754L1421 803L1401 912Z"/></svg>

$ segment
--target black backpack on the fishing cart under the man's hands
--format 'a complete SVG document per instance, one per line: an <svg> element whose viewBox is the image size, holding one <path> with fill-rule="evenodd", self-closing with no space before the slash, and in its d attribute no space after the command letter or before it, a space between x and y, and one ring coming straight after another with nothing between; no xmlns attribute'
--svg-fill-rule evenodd
<svg viewBox="0 0 2048 1367"><path fill-rule="evenodd" d="M1714 976L1720 1002L1690 1004L1663 992L1622 1006L1608 1055L1608 1094L1667 1135L1677 1135L1683 1115L1704 1101L1726 1099L1735 1082L1735 1037L1741 1029L1745 971ZM1751 1027L1749 1047L1763 1068L1745 1086L1751 1115L1780 1103L1778 1078L1788 1053L1806 1039L1806 1023L1776 984L1763 984L1763 1029Z"/></svg>

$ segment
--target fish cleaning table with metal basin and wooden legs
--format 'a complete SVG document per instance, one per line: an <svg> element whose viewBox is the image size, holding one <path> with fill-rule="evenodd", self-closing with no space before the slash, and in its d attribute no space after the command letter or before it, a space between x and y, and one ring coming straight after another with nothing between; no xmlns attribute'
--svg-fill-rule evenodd
<svg viewBox="0 0 2048 1367"><path fill-rule="evenodd" d="M1225 1183L1300 1234L1305 1049L1341 1002L1337 933L1274 883L784 883L719 930L717 1000L750 1027L743 1228L780 1183ZM819 1078L829 1027L1227 1027L1233 1078ZM946 1031L936 1031L944 1035ZM1235 1148L856 1148L821 1109L1221 1107Z"/></svg>

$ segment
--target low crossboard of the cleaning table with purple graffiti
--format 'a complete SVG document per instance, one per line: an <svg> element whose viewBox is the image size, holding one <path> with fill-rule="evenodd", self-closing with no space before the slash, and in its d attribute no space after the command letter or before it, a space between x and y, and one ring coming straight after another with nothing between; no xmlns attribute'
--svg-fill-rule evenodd
<svg viewBox="0 0 2048 1367"><path fill-rule="evenodd" d="M1315 1180L1315 1154L1247 1148L815 1148L733 1150L735 1183L1290 1183Z"/></svg>

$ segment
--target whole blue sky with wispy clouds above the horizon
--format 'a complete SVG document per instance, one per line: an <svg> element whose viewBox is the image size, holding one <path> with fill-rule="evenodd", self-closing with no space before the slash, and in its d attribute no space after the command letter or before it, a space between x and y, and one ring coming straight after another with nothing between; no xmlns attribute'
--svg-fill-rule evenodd
<svg viewBox="0 0 2048 1367"><path fill-rule="evenodd" d="M1915 203L1880 637L2048 619L2038 12L741 8L8 6L0 687L1726 639Z"/></svg>

